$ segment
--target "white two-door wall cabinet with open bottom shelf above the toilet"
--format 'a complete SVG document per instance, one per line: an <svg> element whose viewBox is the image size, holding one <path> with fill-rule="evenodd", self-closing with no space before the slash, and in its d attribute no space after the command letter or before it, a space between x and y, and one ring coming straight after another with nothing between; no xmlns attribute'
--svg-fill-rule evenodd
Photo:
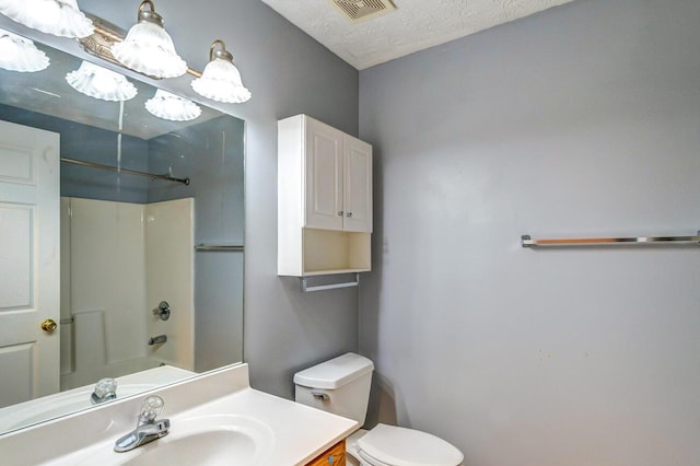
<svg viewBox="0 0 700 466"><path fill-rule="evenodd" d="M372 145L306 115L278 131L278 273L370 270Z"/></svg>

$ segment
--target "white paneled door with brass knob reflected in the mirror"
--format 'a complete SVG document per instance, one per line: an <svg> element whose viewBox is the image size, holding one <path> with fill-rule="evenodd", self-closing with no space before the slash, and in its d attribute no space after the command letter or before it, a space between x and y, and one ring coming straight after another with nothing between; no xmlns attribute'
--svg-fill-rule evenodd
<svg viewBox="0 0 700 466"><path fill-rule="evenodd" d="M0 407L58 392L59 135L0 121ZM4 374L12 374L7 376Z"/></svg>

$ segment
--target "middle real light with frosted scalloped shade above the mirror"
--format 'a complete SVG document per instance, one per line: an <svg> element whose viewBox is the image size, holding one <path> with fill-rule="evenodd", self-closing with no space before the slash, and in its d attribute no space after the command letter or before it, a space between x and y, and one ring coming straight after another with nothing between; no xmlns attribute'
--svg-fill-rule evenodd
<svg viewBox="0 0 700 466"><path fill-rule="evenodd" d="M147 5L150 11L145 10ZM153 2L143 0L139 7L138 23L131 26L124 42L112 46L112 55L127 68L153 78L185 74L187 63L175 51L173 39L163 24L163 16L155 12Z"/></svg>

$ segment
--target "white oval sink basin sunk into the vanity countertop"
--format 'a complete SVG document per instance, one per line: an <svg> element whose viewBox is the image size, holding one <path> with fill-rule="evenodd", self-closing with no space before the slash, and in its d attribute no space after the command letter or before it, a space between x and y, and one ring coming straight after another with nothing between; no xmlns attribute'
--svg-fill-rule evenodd
<svg viewBox="0 0 700 466"><path fill-rule="evenodd" d="M235 415L176 417L171 419L170 433L162 439L126 453L113 452L114 444L102 444L98 453L85 456L80 464L269 465L273 444L272 430L254 418Z"/></svg>

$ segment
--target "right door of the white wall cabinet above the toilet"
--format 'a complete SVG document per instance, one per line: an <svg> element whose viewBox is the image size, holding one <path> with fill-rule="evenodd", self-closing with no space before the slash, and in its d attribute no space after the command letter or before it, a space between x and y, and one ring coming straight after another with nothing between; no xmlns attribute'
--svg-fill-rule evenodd
<svg viewBox="0 0 700 466"><path fill-rule="evenodd" d="M372 232L372 145L345 138L343 230Z"/></svg>

